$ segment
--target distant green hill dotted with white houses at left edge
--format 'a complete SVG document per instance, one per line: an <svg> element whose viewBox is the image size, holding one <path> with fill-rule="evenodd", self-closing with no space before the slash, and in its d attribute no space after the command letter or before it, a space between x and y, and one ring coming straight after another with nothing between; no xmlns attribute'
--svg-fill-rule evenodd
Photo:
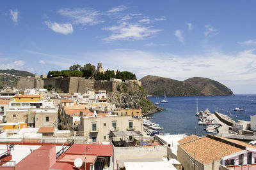
<svg viewBox="0 0 256 170"><path fill-rule="evenodd" d="M0 89L4 87L17 87L17 81L20 77L35 76L28 71L20 71L15 69L0 70Z"/></svg>

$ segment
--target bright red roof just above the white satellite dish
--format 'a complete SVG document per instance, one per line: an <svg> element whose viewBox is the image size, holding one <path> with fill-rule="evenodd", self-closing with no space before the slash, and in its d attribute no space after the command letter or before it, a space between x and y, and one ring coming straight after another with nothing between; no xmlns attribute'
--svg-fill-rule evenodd
<svg viewBox="0 0 256 170"><path fill-rule="evenodd" d="M111 157L113 155L113 145L92 145L92 144L74 144L66 154L92 154L101 157Z"/></svg>

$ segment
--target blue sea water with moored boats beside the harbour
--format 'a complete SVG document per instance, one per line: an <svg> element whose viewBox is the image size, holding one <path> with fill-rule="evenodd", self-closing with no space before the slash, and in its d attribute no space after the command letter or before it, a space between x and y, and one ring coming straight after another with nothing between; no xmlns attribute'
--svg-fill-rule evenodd
<svg viewBox="0 0 256 170"><path fill-rule="evenodd" d="M153 103L156 97L148 97ZM164 97L159 97L163 100ZM218 111L237 120L250 121L251 115L256 115L256 94L239 94L236 96L189 96L189 97L167 97L168 103L157 105L164 108L150 115L152 122L163 127L164 133L170 134L196 134L205 136L204 125L198 125L196 113L196 99L198 100L198 111L208 109L211 113ZM241 108L245 111L234 111Z"/></svg>

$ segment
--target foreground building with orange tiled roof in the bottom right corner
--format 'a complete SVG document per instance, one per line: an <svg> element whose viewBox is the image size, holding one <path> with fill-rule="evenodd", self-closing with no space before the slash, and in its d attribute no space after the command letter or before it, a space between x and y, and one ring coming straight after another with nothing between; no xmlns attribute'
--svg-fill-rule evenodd
<svg viewBox="0 0 256 170"><path fill-rule="evenodd" d="M184 169L255 168L256 146L207 135L179 141L177 158Z"/></svg>

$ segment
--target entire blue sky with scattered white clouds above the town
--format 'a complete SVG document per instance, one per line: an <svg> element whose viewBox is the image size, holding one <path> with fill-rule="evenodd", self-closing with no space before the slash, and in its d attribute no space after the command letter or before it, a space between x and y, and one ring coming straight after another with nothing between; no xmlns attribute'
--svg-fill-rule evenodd
<svg viewBox="0 0 256 170"><path fill-rule="evenodd" d="M0 69L73 64L256 94L256 1L0 1Z"/></svg>

